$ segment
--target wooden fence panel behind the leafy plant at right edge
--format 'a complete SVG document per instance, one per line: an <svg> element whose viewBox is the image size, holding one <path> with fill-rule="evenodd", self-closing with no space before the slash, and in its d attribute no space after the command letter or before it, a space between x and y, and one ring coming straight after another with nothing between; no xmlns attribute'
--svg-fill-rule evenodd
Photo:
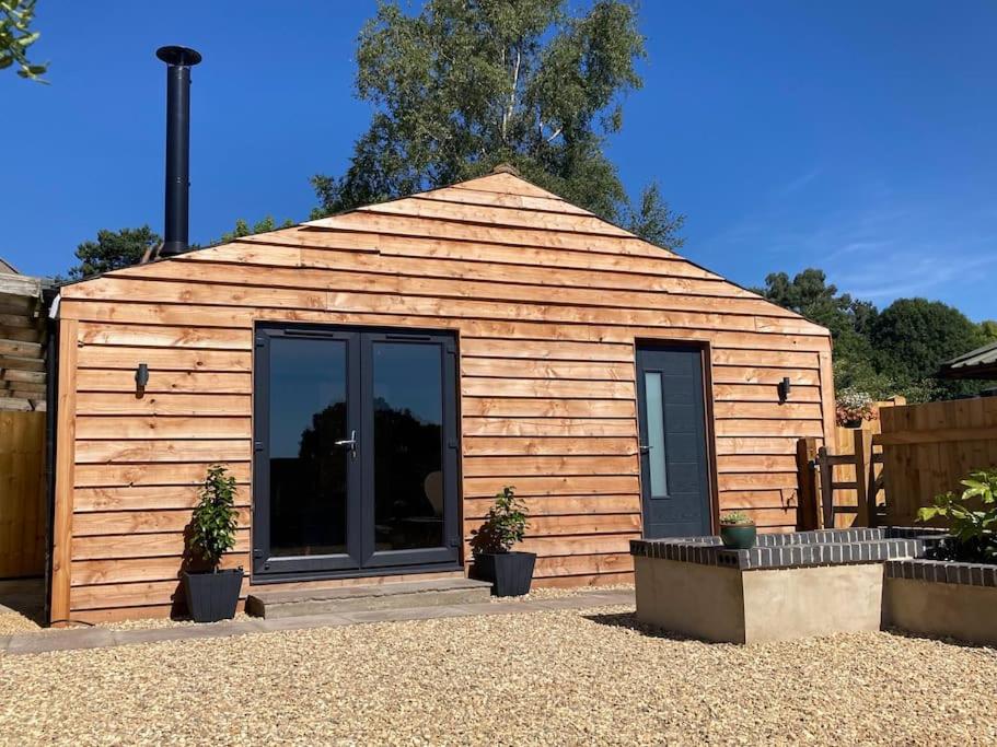
<svg viewBox="0 0 997 747"><path fill-rule="evenodd" d="M894 407L881 413L886 521L909 526L917 509L958 490L971 469L997 467L997 397Z"/></svg>

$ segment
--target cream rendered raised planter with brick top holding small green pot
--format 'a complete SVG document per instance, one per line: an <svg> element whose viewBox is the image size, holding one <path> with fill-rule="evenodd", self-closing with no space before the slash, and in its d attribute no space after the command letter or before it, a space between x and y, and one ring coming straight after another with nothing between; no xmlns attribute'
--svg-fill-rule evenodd
<svg viewBox="0 0 997 747"><path fill-rule="evenodd" d="M761 535L750 550L718 537L633 540L637 618L729 643L879 630L883 563L946 541L893 527Z"/></svg>

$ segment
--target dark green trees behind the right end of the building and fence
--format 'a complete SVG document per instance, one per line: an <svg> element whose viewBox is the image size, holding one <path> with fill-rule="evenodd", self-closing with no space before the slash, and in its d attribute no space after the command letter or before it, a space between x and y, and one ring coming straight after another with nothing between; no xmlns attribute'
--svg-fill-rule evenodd
<svg viewBox="0 0 997 747"><path fill-rule="evenodd" d="M756 292L831 330L834 384L839 392L926 401L972 394L983 386L935 376L946 360L984 345L988 329L988 323L974 324L941 302L899 299L879 311L868 301L839 293L815 268L792 279L773 272Z"/></svg>

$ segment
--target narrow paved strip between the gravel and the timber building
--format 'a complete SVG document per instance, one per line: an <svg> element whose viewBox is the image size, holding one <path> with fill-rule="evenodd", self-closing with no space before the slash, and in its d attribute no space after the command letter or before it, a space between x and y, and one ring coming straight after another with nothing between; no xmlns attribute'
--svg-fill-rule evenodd
<svg viewBox="0 0 997 747"><path fill-rule="evenodd" d="M634 604L634 592L631 590L605 592L594 590L580 592L577 596L554 599L528 599L522 602L510 599L508 602L479 602L429 607L396 607L276 619L229 620L210 625L175 626L173 628L146 628L140 630L111 630L100 627L79 628L3 635L0 637L0 653L7 655L44 654L54 651L82 651L140 643L160 643L162 641L254 635L372 622L404 622L407 620L432 620L487 615L525 615L529 612L589 609L627 604Z"/></svg>

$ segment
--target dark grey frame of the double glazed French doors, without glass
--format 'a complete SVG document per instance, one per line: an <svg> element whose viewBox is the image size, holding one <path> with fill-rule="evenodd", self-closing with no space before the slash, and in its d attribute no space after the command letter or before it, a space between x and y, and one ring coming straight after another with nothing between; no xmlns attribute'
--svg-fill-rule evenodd
<svg viewBox="0 0 997 747"><path fill-rule="evenodd" d="M362 337L361 337L362 336ZM269 497L264 487L269 487L269 454L266 434L269 429L269 346L274 337L292 337L304 339L343 339L347 342L347 407L350 428L356 424L360 441L359 458L353 460L348 475L349 495L347 498L347 546L359 551L361 567L355 563L343 563L341 569L328 568L334 556L315 556L313 561L295 558L276 562L283 569L263 569L266 553L269 551L269 516L266 506ZM374 512L373 481L363 479L364 470L372 476L373 470L373 412L364 406L372 395L373 367L364 366L364 360L371 353L372 343L376 341L426 342L439 345L442 355L442 405L443 428L442 467L443 467L443 546L426 550L392 550L389 558L379 559L373 551L373 537L364 536L364 522L372 528ZM459 357L457 332L453 329L413 329L407 327L359 326L326 323L298 323L271 319L257 319L253 328L253 471L251 475L251 583L279 584L298 581L323 581L334 579L357 579L381 575L403 575L408 573L427 573L434 571L461 570L462 564L462 491L461 491L461 435L459 409ZM356 364L350 357L357 357ZM367 358L366 358L367 357ZM356 396L353 396L356 394ZM355 510L353 506L359 509ZM421 557L418 557L421 556ZM349 555L344 555L349 559ZM394 562L389 562L394 560ZM372 562L373 561L373 562ZM271 565L274 560L268 561ZM369 563L362 565L362 563Z"/></svg>

